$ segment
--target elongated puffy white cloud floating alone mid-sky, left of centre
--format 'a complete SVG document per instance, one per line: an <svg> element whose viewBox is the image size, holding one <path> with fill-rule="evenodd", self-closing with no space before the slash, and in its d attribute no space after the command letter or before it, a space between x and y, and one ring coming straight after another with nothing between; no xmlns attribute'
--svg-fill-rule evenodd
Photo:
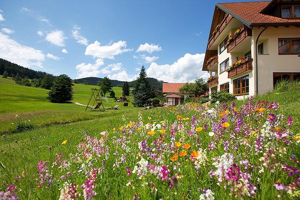
<svg viewBox="0 0 300 200"><path fill-rule="evenodd" d="M109 58L114 59L114 56L119 55L123 52L131 51L131 49L126 49L126 41L118 41L113 44L101 46L100 42L97 40L89 44L85 49L85 55L91 55L98 58Z"/></svg>

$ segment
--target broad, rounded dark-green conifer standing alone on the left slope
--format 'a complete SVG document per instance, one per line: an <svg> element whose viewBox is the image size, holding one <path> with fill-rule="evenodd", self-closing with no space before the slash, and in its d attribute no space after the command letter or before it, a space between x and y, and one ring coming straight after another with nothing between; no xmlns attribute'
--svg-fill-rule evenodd
<svg viewBox="0 0 300 200"><path fill-rule="evenodd" d="M73 100L72 80L65 74L56 77L53 86L48 92L47 99L54 103L65 103Z"/></svg>

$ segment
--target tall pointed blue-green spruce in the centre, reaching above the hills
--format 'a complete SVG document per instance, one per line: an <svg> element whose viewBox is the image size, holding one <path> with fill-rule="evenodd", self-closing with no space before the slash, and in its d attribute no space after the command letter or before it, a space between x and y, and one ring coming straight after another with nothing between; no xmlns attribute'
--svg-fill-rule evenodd
<svg viewBox="0 0 300 200"><path fill-rule="evenodd" d="M143 107L150 101L151 86L146 78L146 69L143 65L141 68L140 76L136 80L134 88L134 106L136 107Z"/></svg>

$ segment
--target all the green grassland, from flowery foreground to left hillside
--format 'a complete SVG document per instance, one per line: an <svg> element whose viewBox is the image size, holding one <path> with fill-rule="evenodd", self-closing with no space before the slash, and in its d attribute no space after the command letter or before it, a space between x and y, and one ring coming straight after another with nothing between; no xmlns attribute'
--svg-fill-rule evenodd
<svg viewBox="0 0 300 200"><path fill-rule="evenodd" d="M135 200L300 197L298 83L282 84L266 95L225 105L192 103L149 111L131 107L84 112L79 105L52 105L44 99L46 90L1 81L9 80L0 78L1 119L13 127L14 117L8 119L5 114L20 113L22 120L31 120L36 126L1 138L0 180L4 182L0 192L7 196ZM7 89L8 84L15 89ZM2 88L11 91L15 102L7 99L6 92L2 95ZM85 88L89 90L89 86L74 86L74 101L86 103L89 92ZM17 102L20 107L9 108ZM33 112L36 102L41 103L36 111L47 114L25 116ZM6 103L10 105L7 108ZM71 118L78 120L43 125Z"/></svg>

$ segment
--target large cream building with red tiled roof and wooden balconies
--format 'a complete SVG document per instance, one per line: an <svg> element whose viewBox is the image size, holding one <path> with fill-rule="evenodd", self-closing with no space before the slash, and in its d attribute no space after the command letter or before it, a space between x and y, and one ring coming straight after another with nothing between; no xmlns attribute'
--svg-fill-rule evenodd
<svg viewBox="0 0 300 200"><path fill-rule="evenodd" d="M300 1L218 3L202 70L210 93L238 98L300 80Z"/></svg>

